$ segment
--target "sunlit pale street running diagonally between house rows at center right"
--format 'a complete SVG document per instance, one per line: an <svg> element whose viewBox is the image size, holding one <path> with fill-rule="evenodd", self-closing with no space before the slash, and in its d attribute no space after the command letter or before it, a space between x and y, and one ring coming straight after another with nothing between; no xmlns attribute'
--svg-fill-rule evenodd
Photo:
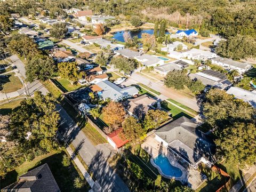
<svg viewBox="0 0 256 192"><path fill-rule="evenodd" d="M196 99L190 99L184 95L178 94L177 92L168 89L164 85L152 82L148 78L143 77L137 73L133 73L129 79L132 79L134 83L142 83L144 85L150 86L151 89L162 93L166 98L171 98L175 101L178 101L183 105L194 109L195 111L199 110Z"/></svg>

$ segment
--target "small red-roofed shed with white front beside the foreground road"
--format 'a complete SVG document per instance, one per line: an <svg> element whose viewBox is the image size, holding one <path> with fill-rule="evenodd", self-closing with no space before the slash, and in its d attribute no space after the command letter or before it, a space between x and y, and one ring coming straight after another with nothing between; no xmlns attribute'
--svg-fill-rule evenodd
<svg viewBox="0 0 256 192"><path fill-rule="evenodd" d="M116 150L122 146L124 146L129 140L124 140L120 137L119 133L122 131L121 129L115 130L112 133L107 135L107 141L109 144L114 147Z"/></svg>

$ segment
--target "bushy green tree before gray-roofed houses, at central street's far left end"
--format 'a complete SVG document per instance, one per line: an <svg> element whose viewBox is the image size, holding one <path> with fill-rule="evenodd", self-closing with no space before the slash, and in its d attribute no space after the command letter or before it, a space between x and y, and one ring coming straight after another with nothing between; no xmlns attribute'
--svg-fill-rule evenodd
<svg viewBox="0 0 256 192"><path fill-rule="evenodd" d="M113 65L114 68L123 71L125 74L130 74L131 71L138 67L138 62L133 59L117 56L110 61L110 65Z"/></svg>

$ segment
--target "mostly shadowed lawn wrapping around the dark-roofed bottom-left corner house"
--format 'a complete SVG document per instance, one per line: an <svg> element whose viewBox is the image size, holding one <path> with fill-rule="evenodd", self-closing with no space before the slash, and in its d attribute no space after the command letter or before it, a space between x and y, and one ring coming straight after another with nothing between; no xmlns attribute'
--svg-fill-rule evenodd
<svg viewBox="0 0 256 192"><path fill-rule="evenodd" d="M7 173L5 179L1 180L1 187L10 185L11 183L17 181L20 175L34 169L35 167L47 163L61 191L89 191L90 186L88 183L86 183L85 187L83 187L82 189L76 189L73 186L74 179L76 177L81 177L82 175L79 175L79 173L75 169L76 167L73 164L70 164L70 166L68 167L64 167L62 165L61 161L64 154L65 152L49 153L36 157L31 162L25 162L21 164L16 169Z"/></svg>

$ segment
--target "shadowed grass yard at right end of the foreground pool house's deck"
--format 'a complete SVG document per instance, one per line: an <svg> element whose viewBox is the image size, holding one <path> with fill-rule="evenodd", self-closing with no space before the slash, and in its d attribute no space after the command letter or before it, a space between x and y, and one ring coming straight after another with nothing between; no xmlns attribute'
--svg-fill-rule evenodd
<svg viewBox="0 0 256 192"><path fill-rule="evenodd" d="M197 170L206 175L207 180L196 189L196 192L217 191L228 181L228 178L223 176L218 178L218 174L204 164L200 164Z"/></svg>

